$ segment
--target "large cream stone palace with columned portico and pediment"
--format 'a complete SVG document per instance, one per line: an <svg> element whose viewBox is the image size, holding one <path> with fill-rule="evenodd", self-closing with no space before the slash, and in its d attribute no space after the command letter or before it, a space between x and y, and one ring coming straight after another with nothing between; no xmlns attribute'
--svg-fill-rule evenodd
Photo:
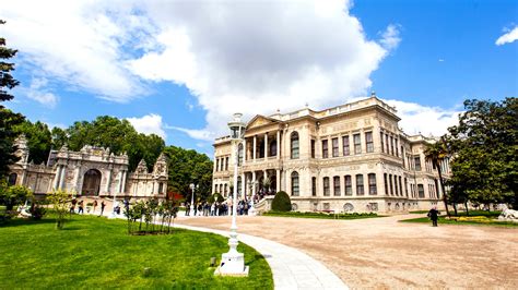
<svg viewBox="0 0 518 290"><path fill-rule="evenodd" d="M437 170L424 150L432 137L408 135L397 110L369 98L314 111L256 116L235 149L228 136L214 143L213 193L256 196L258 210L285 191L294 210L408 212L442 207ZM431 120L433 121L433 120ZM445 178L449 160L440 165Z"/></svg>

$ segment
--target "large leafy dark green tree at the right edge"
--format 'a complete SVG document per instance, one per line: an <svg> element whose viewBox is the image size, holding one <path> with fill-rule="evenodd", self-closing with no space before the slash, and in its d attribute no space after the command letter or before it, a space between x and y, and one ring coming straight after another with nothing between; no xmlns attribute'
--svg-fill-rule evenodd
<svg viewBox="0 0 518 290"><path fill-rule="evenodd" d="M507 202L518 208L518 101L466 100L459 124L448 129L454 189L472 203Z"/></svg>

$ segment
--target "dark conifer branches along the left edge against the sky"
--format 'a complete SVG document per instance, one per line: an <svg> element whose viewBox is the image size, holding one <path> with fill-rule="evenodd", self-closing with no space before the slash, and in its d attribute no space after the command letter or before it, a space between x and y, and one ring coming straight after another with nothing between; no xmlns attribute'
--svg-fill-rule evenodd
<svg viewBox="0 0 518 290"><path fill-rule="evenodd" d="M0 25L4 23L3 20L0 20ZM11 71L14 71L14 63L7 61L13 58L17 50L5 47L5 38L0 37L0 179L8 174L9 165L17 161L17 157L14 156L13 142L16 133L13 132L13 126L20 124L24 119L22 114L14 113L1 105L2 101L14 98L8 89L20 84L11 75Z"/></svg>

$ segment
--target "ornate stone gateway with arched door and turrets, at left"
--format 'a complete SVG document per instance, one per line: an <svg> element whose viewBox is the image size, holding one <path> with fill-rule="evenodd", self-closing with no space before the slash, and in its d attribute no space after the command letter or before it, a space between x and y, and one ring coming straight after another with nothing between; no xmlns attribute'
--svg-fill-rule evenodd
<svg viewBox="0 0 518 290"><path fill-rule="evenodd" d="M10 166L9 185L24 185L36 195L64 190L84 197L165 198L167 191L167 160L161 154L149 172L144 160L136 172L128 171L128 156L114 155L109 148L84 146L80 152L63 146L51 150L47 164L28 161L27 141L22 135L16 142L20 160Z"/></svg>

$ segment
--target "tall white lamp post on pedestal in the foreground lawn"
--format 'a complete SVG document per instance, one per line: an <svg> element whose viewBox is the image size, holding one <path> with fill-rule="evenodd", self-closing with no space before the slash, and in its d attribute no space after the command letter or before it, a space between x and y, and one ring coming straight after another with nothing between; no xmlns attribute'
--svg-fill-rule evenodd
<svg viewBox="0 0 518 290"><path fill-rule="evenodd" d="M227 253L224 253L221 258L220 267L215 270L215 275L221 276L248 276L248 266L245 267L245 255L237 252L237 162L239 160L239 144L243 142L245 136L245 123L242 121L242 113L234 113L234 120L228 122L231 129L231 140L234 146L234 193L233 193L233 206L232 206L232 226L231 226L231 238L228 239L228 246L231 247ZM242 181L244 182L244 181Z"/></svg>

